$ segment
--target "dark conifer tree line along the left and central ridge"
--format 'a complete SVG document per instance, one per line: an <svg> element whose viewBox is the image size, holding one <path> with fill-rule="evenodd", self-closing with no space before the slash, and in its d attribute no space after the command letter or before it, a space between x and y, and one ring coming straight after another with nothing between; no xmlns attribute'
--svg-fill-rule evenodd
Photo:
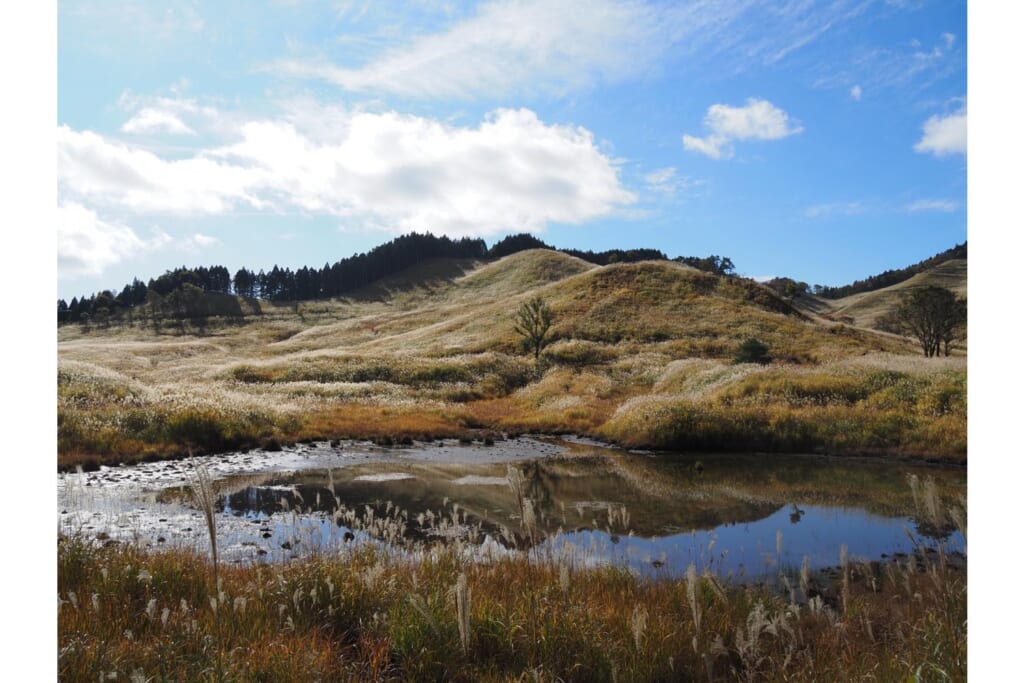
<svg viewBox="0 0 1024 683"><path fill-rule="evenodd" d="M643 260L669 260L656 249L611 249L581 251L556 249L532 234L512 234L490 248L480 239L419 234L416 232L354 254L322 268L303 266L298 270L274 265L270 270L255 272L242 267L231 275L222 265L168 270L159 278L143 283L134 279L120 293L104 290L91 296L75 297L71 302L57 301L57 323L102 323L148 308L151 314L171 317L194 317L209 314L241 314L237 301L207 295L228 295L266 301L309 301L330 299L366 287L382 278L435 258L494 260L527 249L549 249L575 256L597 265L631 263ZM679 256L673 259L701 270L730 274L734 270L728 257ZM137 312L137 311L136 311Z"/></svg>

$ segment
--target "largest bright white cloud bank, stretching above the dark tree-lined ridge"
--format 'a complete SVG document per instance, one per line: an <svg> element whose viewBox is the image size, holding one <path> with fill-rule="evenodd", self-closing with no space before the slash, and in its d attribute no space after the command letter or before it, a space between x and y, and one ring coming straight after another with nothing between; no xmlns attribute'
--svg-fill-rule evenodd
<svg viewBox="0 0 1024 683"><path fill-rule="evenodd" d="M528 110L499 110L477 127L395 113L330 116L329 135L323 116L253 121L238 142L176 160L61 126L59 188L140 213L299 209L356 227L451 236L543 230L636 201L589 131L545 124Z"/></svg>

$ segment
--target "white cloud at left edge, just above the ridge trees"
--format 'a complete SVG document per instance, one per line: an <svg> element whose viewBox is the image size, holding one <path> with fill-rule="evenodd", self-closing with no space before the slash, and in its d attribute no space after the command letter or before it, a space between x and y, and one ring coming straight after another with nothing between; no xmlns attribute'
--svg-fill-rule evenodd
<svg viewBox="0 0 1024 683"><path fill-rule="evenodd" d="M57 268L61 278L95 275L127 258L171 242L165 232L143 240L127 225L101 220L79 204L57 207Z"/></svg>

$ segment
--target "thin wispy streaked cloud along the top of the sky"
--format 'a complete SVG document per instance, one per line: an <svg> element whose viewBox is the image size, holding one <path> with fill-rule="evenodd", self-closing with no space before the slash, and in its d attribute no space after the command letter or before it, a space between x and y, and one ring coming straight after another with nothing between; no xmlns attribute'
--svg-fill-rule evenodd
<svg viewBox="0 0 1024 683"><path fill-rule="evenodd" d="M863 6L856 0L825 7L750 0L493 0L446 29L392 44L361 66L296 57L267 69L351 91L412 97L561 94L643 77L666 56L716 60L724 70L773 63Z"/></svg>

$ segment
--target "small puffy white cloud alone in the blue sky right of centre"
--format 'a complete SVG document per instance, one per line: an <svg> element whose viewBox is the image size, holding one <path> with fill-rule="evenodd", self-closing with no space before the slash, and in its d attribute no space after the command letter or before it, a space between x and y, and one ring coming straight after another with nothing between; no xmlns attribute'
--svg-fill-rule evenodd
<svg viewBox="0 0 1024 683"><path fill-rule="evenodd" d="M777 140L804 129L791 122L790 115L765 99L751 97L744 106L712 104L705 116L706 137L683 135L683 146L711 157L732 157L734 140Z"/></svg>

